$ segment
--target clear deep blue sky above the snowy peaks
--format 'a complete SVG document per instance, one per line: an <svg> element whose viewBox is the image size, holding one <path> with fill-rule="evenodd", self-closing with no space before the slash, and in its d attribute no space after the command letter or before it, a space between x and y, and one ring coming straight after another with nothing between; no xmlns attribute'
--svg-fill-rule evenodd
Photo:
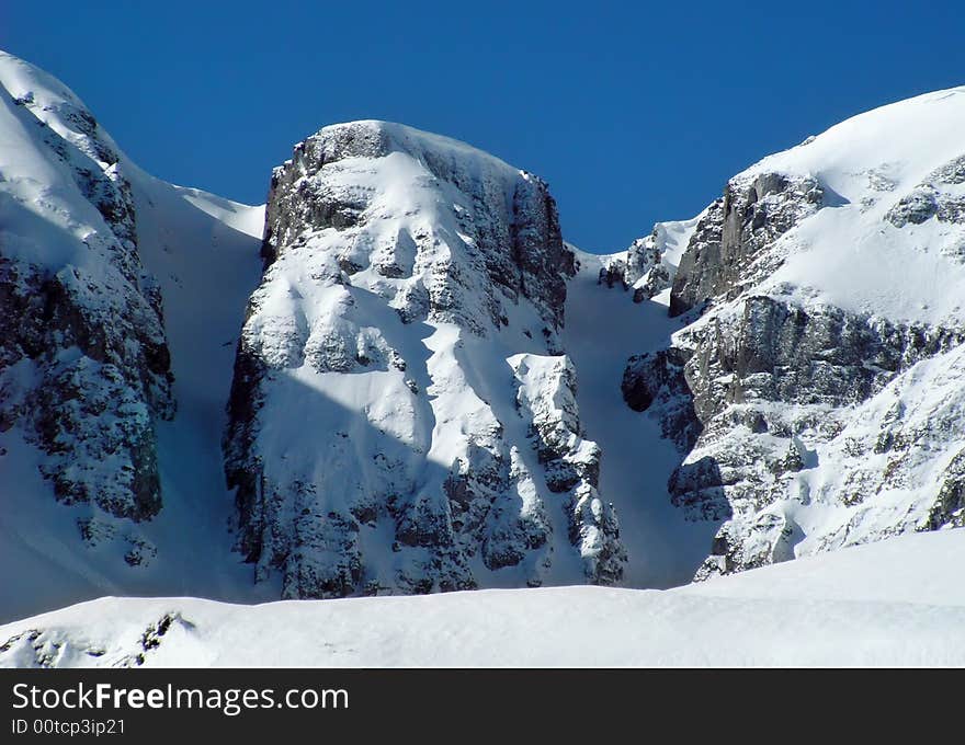
<svg viewBox="0 0 965 745"><path fill-rule="evenodd" d="M168 181L260 203L297 140L390 119L541 174L567 238L614 251L769 152L965 83L963 5L0 0L0 47Z"/></svg>

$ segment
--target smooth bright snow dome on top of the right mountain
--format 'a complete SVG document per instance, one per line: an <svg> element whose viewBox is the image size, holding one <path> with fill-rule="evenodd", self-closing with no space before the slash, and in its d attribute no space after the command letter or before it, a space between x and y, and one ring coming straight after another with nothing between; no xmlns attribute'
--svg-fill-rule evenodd
<svg viewBox="0 0 965 745"><path fill-rule="evenodd" d="M927 208L938 196L938 207L965 211L963 122L965 87L927 93L852 117L736 176L810 176L832 194L830 209L783 239L788 259L760 289L895 321L961 324L965 225L951 215L901 222L893 210L902 202Z"/></svg>

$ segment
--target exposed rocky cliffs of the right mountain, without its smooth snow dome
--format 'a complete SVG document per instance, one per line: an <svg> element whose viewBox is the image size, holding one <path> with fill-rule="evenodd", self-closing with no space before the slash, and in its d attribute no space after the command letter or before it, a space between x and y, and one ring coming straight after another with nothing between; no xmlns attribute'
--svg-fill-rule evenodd
<svg viewBox="0 0 965 745"><path fill-rule="evenodd" d="M943 187L965 177L961 171L962 159L939 169L886 219L898 229L933 217L961 224L961 197ZM869 177L884 184L877 191L894 188L883 175ZM852 509L839 513L840 525L811 528L811 551L961 524L957 460L926 519L910 507L892 515L875 506L877 494L907 489L941 452L955 427L956 399L944 409L922 401L906 411L898 398L884 414L870 409L869 423L853 421L853 412L889 386L904 390L923 360L958 355L965 330L754 293L786 257L782 236L841 204L813 179L765 172L733 181L697 225L671 291L671 314L702 317L668 349L628 362L627 404L657 417L684 455L668 482L671 502L689 519L722 524L697 580L793 558L805 531L788 504L820 500ZM811 475L821 457L848 470Z"/></svg>

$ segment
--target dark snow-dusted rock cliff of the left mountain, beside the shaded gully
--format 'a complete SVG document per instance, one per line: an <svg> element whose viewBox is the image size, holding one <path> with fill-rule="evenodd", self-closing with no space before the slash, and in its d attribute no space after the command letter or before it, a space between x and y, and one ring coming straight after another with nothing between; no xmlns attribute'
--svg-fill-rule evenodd
<svg viewBox="0 0 965 745"><path fill-rule="evenodd" d="M110 138L59 83L2 62L0 431L44 454L58 500L90 505L78 525L96 542L111 517L161 507L155 423L174 412L161 297ZM130 540L138 563L148 549Z"/></svg>

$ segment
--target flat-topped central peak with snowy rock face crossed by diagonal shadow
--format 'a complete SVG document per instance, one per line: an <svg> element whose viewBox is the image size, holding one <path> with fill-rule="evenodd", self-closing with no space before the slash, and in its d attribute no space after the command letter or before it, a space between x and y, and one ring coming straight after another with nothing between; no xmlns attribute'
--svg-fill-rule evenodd
<svg viewBox="0 0 965 745"><path fill-rule="evenodd" d="M542 181L400 125L326 127L274 172L263 256L226 440L257 580L328 597L620 578Z"/></svg>

